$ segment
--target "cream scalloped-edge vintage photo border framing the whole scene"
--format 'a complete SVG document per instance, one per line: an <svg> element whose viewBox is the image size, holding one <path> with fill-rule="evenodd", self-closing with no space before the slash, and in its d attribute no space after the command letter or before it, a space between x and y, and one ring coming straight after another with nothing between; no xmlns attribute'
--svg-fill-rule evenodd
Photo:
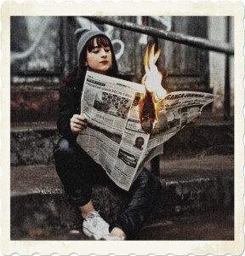
<svg viewBox="0 0 245 256"><path fill-rule="evenodd" d="M211 16L234 16L235 22L235 239L234 241L11 241L10 240L10 16L11 15L211 15ZM75 3L65 1L55 2L24 2L16 3L8 1L3 3L1 9L2 33L1 33L1 198L2 198L2 253L10 255L31 255L40 253L50 255L59 253L69 255L186 255L189 253L205 255L224 255L231 253L240 255L244 249L244 30L243 30L244 6L242 2L230 3L219 1L211 3L200 1L182 1L171 3L160 1L142 1L134 3L123 1L113 3L101 1L94 3L84 1Z"/></svg>

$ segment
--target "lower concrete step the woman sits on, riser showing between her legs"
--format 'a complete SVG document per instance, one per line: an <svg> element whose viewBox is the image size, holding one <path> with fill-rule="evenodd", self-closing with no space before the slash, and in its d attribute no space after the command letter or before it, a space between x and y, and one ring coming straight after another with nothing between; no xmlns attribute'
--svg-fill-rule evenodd
<svg viewBox="0 0 245 256"><path fill-rule="evenodd" d="M160 161L162 193L146 224L172 215L233 209L233 155L209 155L197 159ZM94 207L109 223L127 206L128 195L122 190L96 186ZM74 229L82 218L72 207L62 184L49 166L11 167L11 234L37 229ZM26 234L27 234L26 233Z"/></svg>

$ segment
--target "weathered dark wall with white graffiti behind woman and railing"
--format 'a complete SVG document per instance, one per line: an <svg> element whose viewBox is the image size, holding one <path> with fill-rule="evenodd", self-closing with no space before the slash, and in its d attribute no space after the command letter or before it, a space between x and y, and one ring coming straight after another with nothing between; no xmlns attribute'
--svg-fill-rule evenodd
<svg viewBox="0 0 245 256"><path fill-rule="evenodd" d="M148 17L118 16L118 20L127 20L146 26L182 32L196 37L218 40L225 29L224 20L213 17ZM207 21L208 20L208 21ZM211 26L208 26L211 25ZM219 25L217 27L217 25ZM57 90L66 74L77 64L77 48L74 32L77 27L100 29L104 31L115 48L120 73L127 74L134 82L140 83L144 75L143 59L146 45L157 42L162 50L158 61L159 70L168 77L162 80L168 90L209 90L209 79L214 92L222 95L222 79L215 79L214 70L217 57L211 56L208 67L208 51L190 46L172 43L166 40L129 32L106 24L90 21L86 17L11 17L11 117L19 122L21 116L30 121L48 120L57 117ZM210 30L211 32L208 32ZM219 62L220 60L218 60ZM214 63L215 62L215 63ZM219 78L222 77L220 66ZM210 72L210 76L209 76ZM215 88L214 88L215 87ZM31 94L28 92L31 90ZM54 100L48 100L43 91L50 90ZM32 98L30 96L32 95ZM46 100L40 96L47 97ZM19 99L25 99L21 102ZM34 106L32 102L36 102ZM45 105L44 105L45 104ZM219 102L223 104L223 102ZM49 105L49 106L48 106ZM33 107L34 106L34 107ZM25 107L25 108L24 108ZM48 109L48 111L46 110ZM216 109L216 108L214 108ZM28 114L26 113L33 113ZM47 119L48 118L48 119Z"/></svg>

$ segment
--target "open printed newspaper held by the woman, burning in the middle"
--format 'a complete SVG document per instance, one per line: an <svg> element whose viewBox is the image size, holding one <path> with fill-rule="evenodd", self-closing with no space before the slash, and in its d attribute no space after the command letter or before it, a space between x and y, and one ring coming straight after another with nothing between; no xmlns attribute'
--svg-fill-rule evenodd
<svg viewBox="0 0 245 256"><path fill-rule="evenodd" d="M140 94L145 94L142 84L98 73L87 72L83 84L81 114L88 128L80 132L77 143L125 190L147 162L163 153L163 143L217 97L196 91L169 93L150 135L140 125Z"/></svg>

